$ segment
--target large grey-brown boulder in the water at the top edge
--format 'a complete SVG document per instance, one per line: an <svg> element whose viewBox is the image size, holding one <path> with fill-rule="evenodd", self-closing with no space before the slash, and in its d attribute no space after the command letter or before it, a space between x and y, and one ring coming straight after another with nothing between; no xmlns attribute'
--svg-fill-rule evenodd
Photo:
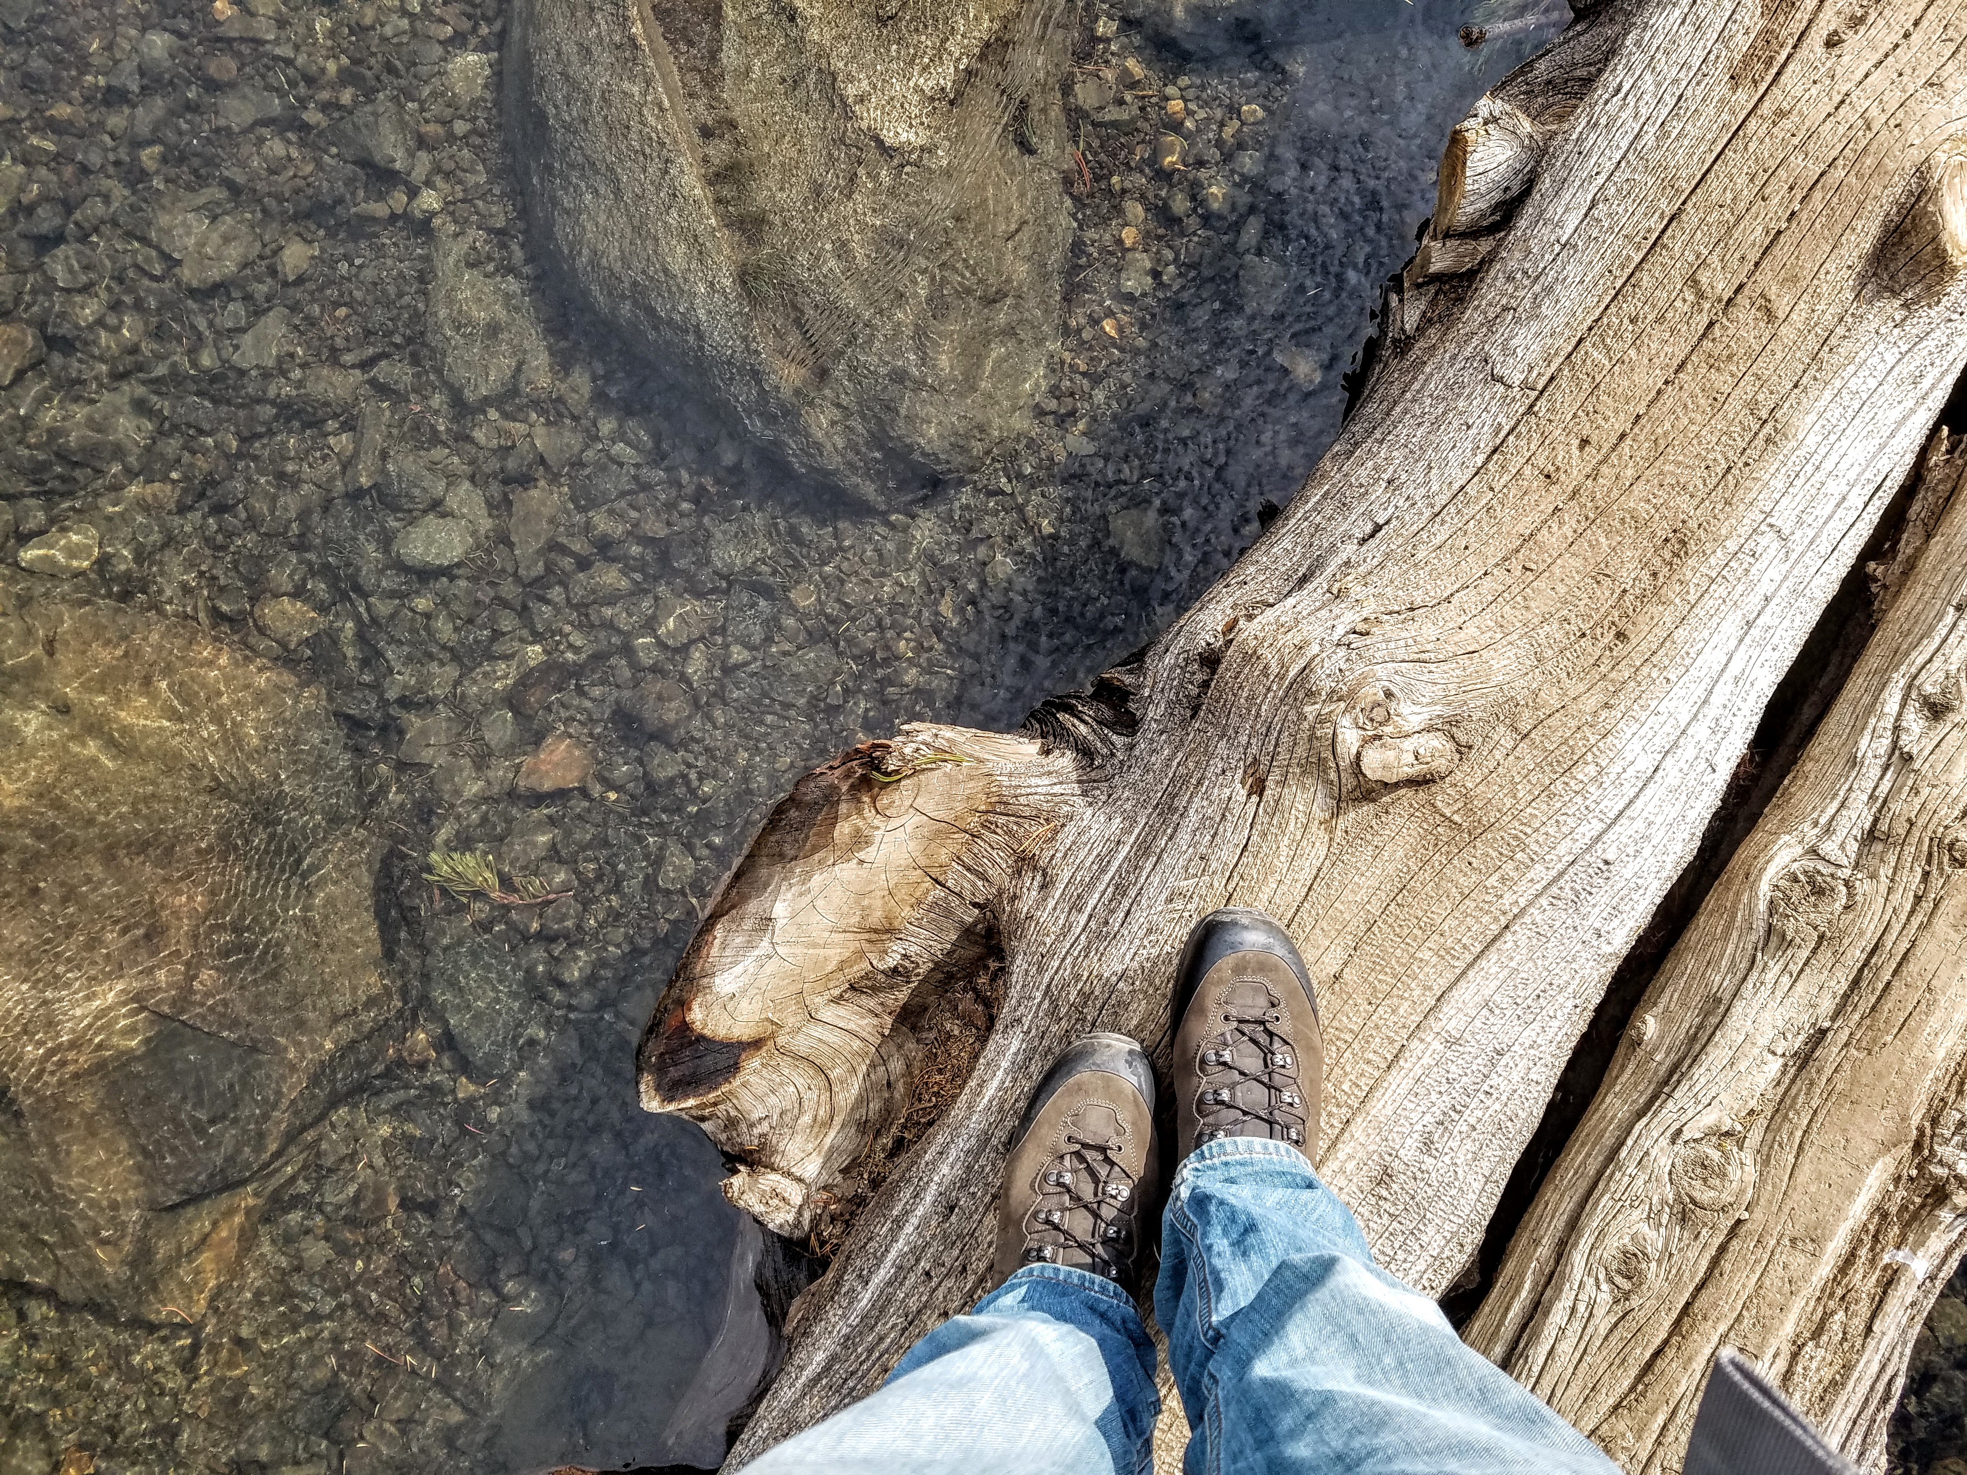
<svg viewBox="0 0 1967 1475"><path fill-rule="evenodd" d="M517 0L541 244L681 389L899 505L1025 427L1056 342L1062 14Z"/></svg>

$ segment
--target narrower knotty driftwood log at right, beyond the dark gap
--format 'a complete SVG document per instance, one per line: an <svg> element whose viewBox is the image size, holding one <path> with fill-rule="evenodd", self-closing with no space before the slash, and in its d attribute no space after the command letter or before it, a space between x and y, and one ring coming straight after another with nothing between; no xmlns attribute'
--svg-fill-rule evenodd
<svg viewBox="0 0 1967 1475"><path fill-rule="evenodd" d="M1967 466L1943 452L1928 507ZM1961 502L1646 989L1469 1328L1627 1469L1678 1469L1723 1345L1880 1469L1967 1243Z"/></svg>

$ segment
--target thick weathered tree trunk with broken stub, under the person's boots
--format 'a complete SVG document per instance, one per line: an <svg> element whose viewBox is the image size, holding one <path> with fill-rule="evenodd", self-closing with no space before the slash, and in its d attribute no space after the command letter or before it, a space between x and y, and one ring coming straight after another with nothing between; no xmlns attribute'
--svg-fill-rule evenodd
<svg viewBox="0 0 1967 1475"><path fill-rule="evenodd" d="M905 730L773 814L643 1099L781 1231L879 1188L734 1461L976 1296L1031 1084L1088 1029L1164 1054L1222 905L1312 968L1320 1166L1375 1253L1428 1292L1467 1265L1967 358L1963 4L1593 10L1499 88L1536 183L1501 234L1471 214L1479 275L1389 303L1357 413L1210 594L1023 736ZM964 1078L950 1021L991 1009Z"/></svg>

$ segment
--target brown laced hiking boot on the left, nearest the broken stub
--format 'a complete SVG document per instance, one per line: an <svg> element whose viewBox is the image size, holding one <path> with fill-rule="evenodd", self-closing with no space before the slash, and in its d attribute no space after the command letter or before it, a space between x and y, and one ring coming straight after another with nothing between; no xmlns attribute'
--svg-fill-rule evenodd
<svg viewBox="0 0 1967 1475"><path fill-rule="evenodd" d="M1125 1034L1068 1044L1011 1137L991 1288L1027 1265L1070 1265L1135 1290L1157 1170L1147 1052Z"/></svg>

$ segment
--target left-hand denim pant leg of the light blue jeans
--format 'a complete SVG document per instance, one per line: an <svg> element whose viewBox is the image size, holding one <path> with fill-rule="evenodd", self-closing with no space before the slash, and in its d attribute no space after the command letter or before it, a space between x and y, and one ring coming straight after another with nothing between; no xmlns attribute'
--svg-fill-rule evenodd
<svg viewBox="0 0 1967 1475"><path fill-rule="evenodd" d="M747 1475L1137 1475L1153 1467L1155 1343L1127 1292L1033 1265L923 1337L879 1392Z"/></svg>

